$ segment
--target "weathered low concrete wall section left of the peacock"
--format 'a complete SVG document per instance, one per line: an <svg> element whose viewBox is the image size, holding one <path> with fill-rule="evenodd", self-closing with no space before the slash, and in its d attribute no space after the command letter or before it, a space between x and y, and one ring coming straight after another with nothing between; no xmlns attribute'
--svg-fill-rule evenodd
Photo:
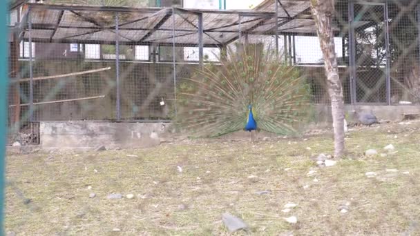
<svg viewBox="0 0 420 236"><path fill-rule="evenodd" d="M41 121L42 148L143 148L160 144L169 123L106 121ZM153 135L151 135L154 133Z"/></svg>

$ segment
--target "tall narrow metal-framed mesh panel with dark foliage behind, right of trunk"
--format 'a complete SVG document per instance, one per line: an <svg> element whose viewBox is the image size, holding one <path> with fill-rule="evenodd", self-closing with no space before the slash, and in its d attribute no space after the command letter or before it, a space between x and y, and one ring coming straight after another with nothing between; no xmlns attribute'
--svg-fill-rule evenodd
<svg viewBox="0 0 420 236"><path fill-rule="evenodd" d="M383 4L354 4L354 66L358 103L387 102L388 25Z"/></svg>

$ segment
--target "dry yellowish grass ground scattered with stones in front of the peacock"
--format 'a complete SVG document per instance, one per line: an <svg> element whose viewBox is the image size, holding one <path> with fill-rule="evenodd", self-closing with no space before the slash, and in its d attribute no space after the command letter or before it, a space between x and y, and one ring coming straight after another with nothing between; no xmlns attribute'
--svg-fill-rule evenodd
<svg viewBox="0 0 420 236"><path fill-rule="evenodd" d="M346 140L347 159L327 168L316 168L309 159L332 153L327 135L9 156L6 230L17 235L228 235L221 215L230 212L249 224L251 235L401 235L410 230L418 235L419 128L412 123L354 130ZM382 150L387 144L398 153L363 157L367 148ZM307 176L309 170L316 173ZM367 171L378 178L365 177ZM257 195L258 190L271 193ZM97 197L89 198L90 193ZM135 198L107 199L111 193ZM338 207L346 201L350 210L342 214ZM283 213L289 202L298 207ZM282 218L291 215L298 224Z"/></svg>

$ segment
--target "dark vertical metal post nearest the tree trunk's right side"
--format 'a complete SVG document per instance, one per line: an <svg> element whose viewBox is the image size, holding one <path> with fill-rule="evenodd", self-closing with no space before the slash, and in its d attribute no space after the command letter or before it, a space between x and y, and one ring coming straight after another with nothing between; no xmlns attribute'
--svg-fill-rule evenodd
<svg viewBox="0 0 420 236"><path fill-rule="evenodd" d="M354 39L354 3L348 5L349 18L349 67L350 67L350 103L356 104L356 39Z"/></svg>

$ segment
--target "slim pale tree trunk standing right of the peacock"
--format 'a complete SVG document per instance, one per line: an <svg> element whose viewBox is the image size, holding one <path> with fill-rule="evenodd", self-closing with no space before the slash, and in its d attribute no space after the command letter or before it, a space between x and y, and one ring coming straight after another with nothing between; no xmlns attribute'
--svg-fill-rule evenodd
<svg viewBox="0 0 420 236"><path fill-rule="evenodd" d="M344 102L343 87L338 76L337 58L332 31L334 0L310 0L311 10L316 23L316 32L323 52L327 88L332 108L332 126L334 128L334 156L344 154Z"/></svg>

